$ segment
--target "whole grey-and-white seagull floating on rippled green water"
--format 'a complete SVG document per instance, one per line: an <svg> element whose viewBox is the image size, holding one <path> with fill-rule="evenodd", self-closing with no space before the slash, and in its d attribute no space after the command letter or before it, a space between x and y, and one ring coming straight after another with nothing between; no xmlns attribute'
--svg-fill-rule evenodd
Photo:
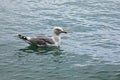
<svg viewBox="0 0 120 80"><path fill-rule="evenodd" d="M38 47L45 47L45 46L60 46L61 37L60 34L65 33L67 31L63 30L61 27L54 27L53 28L53 35L52 37L48 37L45 35L35 36L35 37L26 37L24 35L18 34L18 38L24 40L30 45L35 45Z"/></svg>

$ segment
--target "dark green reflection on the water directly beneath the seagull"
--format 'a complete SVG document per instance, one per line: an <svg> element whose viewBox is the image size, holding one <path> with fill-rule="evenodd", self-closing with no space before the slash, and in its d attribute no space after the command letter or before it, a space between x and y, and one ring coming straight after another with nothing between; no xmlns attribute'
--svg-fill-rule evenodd
<svg viewBox="0 0 120 80"><path fill-rule="evenodd" d="M61 55L63 50L60 47L37 47L37 46L27 46L23 49L19 49L19 51L25 53L35 53L37 55L49 55L52 54L54 56Z"/></svg>

